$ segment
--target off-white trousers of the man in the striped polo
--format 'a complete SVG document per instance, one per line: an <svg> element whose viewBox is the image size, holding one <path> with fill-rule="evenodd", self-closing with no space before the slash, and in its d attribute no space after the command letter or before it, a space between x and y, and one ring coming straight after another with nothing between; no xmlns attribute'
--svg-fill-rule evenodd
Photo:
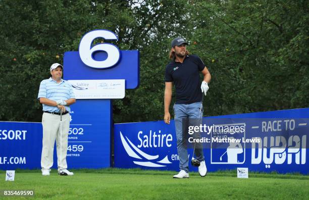
<svg viewBox="0 0 309 200"><path fill-rule="evenodd" d="M41 156L42 169L50 169L54 164L54 145L56 140L58 170L67 169L68 133L70 114L62 116L62 137L60 132L60 115L43 113L43 146ZM61 145L60 145L61 143Z"/></svg>

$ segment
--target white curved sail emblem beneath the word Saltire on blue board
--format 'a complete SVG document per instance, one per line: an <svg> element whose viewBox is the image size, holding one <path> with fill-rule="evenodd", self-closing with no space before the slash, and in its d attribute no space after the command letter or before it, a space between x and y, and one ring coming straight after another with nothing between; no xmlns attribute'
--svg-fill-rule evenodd
<svg viewBox="0 0 309 200"><path fill-rule="evenodd" d="M166 167L166 164L171 164L167 155L164 157L164 159L159 159L159 155L151 156L144 153L137 146L135 146L127 136L124 137L121 131L120 137L122 145L129 157L138 159L133 161L134 164L144 167Z"/></svg>

